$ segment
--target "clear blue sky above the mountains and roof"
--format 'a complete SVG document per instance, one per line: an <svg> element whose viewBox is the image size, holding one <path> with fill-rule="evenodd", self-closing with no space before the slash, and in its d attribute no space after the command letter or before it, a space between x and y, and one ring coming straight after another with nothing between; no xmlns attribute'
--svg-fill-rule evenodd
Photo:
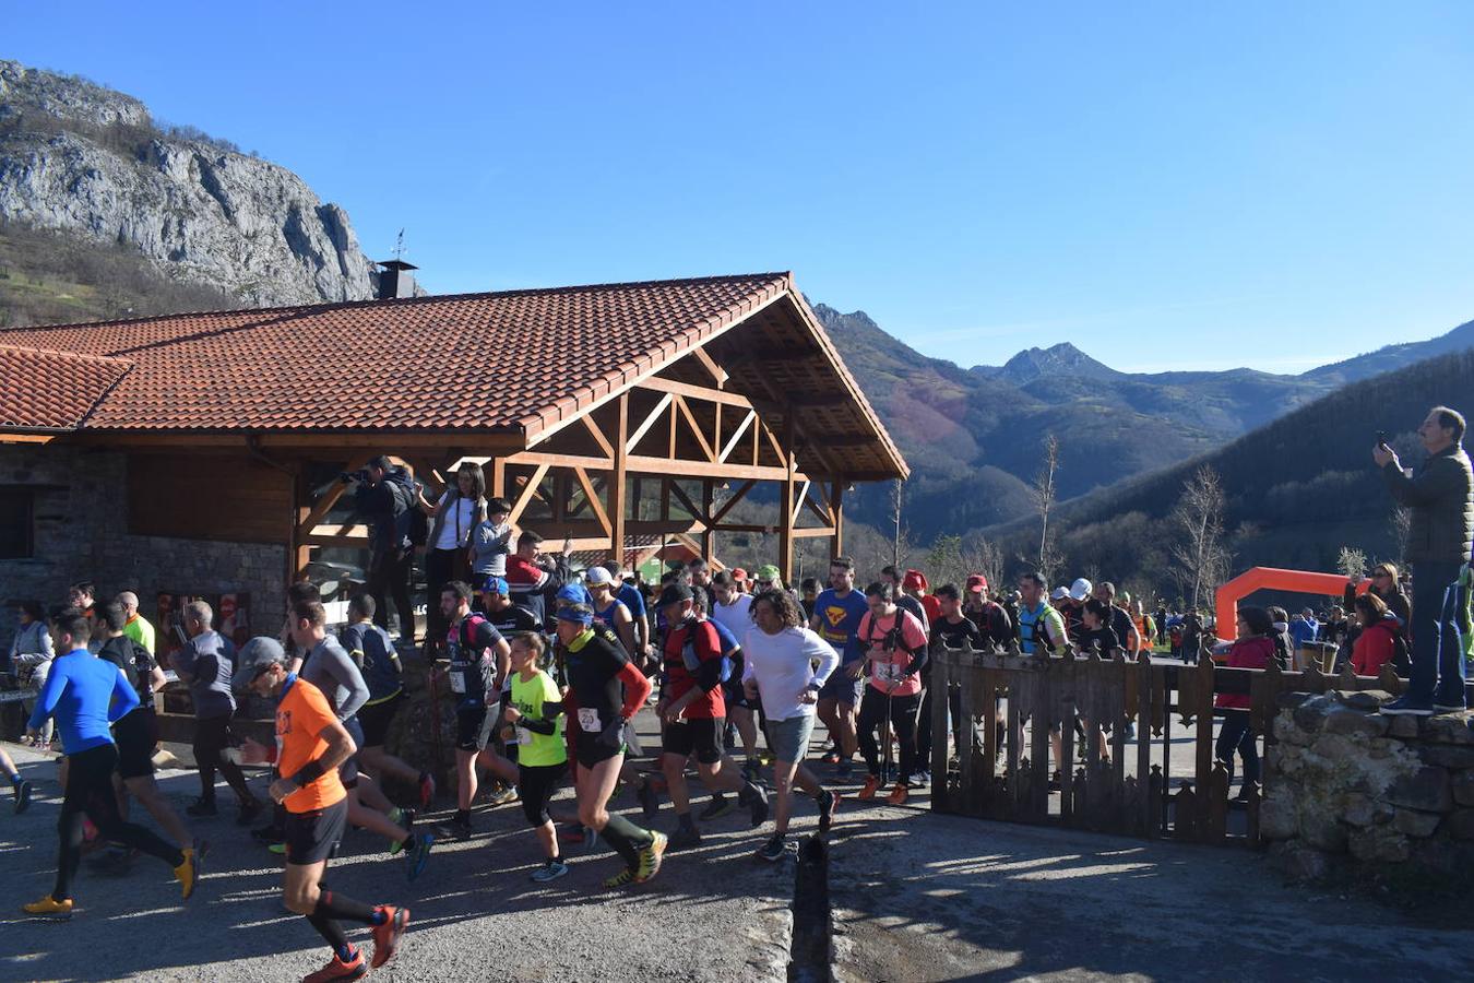
<svg viewBox="0 0 1474 983"><path fill-rule="evenodd" d="M1474 318L1474 4L9 3L432 292L793 270L930 355L1300 371Z"/></svg>

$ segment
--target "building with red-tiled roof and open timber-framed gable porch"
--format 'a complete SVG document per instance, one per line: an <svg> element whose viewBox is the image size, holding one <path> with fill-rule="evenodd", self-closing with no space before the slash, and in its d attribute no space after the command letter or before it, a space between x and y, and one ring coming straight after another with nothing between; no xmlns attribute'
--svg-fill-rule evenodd
<svg viewBox="0 0 1474 983"><path fill-rule="evenodd" d="M364 545L336 476L376 454L430 494L482 463L579 550L775 531L786 579L796 539L842 551L852 482L908 473L789 274L6 329L0 442L16 595L195 578L258 609ZM734 523L765 482L771 520Z"/></svg>

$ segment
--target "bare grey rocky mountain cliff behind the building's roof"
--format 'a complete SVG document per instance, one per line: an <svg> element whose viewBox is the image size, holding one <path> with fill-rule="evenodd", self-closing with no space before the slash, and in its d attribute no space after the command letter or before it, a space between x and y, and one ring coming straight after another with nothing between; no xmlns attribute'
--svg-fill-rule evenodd
<svg viewBox="0 0 1474 983"><path fill-rule="evenodd" d="M0 220L124 245L242 305L373 296L348 214L286 168L161 127L131 96L7 60Z"/></svg>

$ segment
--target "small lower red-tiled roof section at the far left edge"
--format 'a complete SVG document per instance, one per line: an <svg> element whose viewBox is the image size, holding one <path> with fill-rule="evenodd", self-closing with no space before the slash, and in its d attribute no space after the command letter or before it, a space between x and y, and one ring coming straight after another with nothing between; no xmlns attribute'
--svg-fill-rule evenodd
<svg viewBox="0 0 1474 983"><path fill-rule="evenodd" d="M0 345L0 427L72 430L127 371L122 358Z"/></svg>

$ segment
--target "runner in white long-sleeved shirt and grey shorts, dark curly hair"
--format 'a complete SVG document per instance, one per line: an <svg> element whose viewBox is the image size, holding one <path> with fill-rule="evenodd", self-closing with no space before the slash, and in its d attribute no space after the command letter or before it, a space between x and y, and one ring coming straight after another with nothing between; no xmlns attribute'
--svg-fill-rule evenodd
<svg viewBox="0 0 1474 983"><path fill-rule="evenodd" d="M794 783L818 803L820 833L828 833L839 803L839 794L820 786L814 772L803 766L820 690L839 668L839 653L803 626L802 609L793 594L781 588L769 588L753 598L752 619L755 625L743 635L741 681L749 699L762 697L777 790L772 837L758 856L778 861L789 849Z"/></svg>

